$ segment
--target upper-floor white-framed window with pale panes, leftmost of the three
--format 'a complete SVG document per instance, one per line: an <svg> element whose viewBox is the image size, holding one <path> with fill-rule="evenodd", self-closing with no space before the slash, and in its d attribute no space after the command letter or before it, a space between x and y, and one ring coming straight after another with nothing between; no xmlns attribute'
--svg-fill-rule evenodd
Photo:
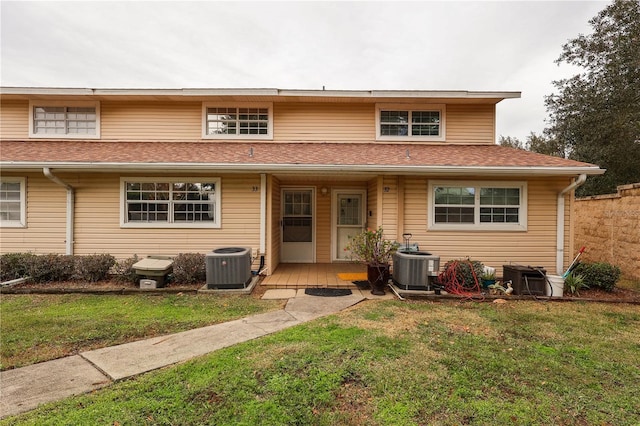
<svg viewBox="0 0 640 426"><path fill-rule="evenodd" d="M98 102L30 102L29 136L34 138L100 137Z"/></svg>

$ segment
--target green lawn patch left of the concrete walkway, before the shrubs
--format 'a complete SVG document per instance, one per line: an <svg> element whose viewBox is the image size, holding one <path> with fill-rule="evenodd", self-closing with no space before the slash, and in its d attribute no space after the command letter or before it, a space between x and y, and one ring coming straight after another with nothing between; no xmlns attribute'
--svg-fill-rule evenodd
<svg viewBox="0 0 640 426"><path fill-rule="evenodd" d="M0 366L21 367L279 307L248 296L3 295Z"/></svg>

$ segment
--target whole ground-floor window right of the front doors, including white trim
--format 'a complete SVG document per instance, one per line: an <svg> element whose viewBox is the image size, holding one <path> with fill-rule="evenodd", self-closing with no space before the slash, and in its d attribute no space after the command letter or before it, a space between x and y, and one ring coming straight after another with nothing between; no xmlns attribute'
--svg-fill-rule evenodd
<svg viewBox="0 0 640 426"><path fill-rule="evenodd" d="M433 230L527 229L525 182L430 182Z"/></svg>

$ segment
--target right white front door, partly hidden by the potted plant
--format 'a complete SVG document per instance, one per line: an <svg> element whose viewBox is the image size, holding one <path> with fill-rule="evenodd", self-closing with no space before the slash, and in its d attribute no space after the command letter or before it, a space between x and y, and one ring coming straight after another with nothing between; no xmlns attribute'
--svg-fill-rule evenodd
<svg viewBox="0 0 640 426"><path fill-rule="evenodd" d="M337 189L333 193L333 260L350 260L345 250L351 237L365 224L365 191Z"/></svg>

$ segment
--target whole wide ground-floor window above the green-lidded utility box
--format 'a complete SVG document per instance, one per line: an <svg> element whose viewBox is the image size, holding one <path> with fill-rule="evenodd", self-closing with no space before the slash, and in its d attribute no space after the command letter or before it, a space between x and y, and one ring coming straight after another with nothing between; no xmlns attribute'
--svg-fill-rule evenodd
<svg viewBox="0 0 640 426"><path fill-rule="evenodd" d="M220 178L122 178L121 184L123 227L220 227Z"/></svg>

